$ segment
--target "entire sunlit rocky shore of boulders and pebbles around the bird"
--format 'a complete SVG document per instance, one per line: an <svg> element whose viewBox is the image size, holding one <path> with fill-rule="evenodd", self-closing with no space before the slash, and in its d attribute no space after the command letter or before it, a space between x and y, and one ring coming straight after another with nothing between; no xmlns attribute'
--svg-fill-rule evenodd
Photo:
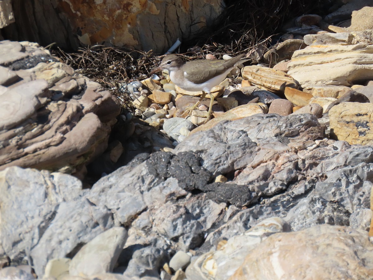
<svg viewBox="0 0 373 280"><path fill-rule="evenodd" d="M0 41L0 279L373 279L372 15L294 19L214 88L211 120L167 73L123 84L121 112Z"/></svg>

